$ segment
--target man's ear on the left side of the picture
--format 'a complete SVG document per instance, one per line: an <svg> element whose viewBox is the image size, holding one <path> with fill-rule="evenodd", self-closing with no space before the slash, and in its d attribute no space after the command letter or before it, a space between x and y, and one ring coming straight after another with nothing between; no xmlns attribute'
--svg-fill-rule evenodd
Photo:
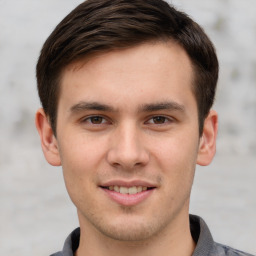
<svg viewBox="0 0 256 256"><path fill-rule="evenodd" d="M52 127L42 108L38 109L35 116L35 124L41 139L41 146L47 162L53 166L60 166L58 143Z"/></svg>

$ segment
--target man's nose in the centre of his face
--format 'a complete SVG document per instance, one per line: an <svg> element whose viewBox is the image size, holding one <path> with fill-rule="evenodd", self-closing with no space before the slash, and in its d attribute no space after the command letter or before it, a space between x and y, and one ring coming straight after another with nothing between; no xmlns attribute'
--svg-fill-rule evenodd
<svg viewBox="0 0 256 256"><path fill-rule="evenodd" d="M115 167L132 170L145 166L149 161L149 153L139 128L135 125L123 125L111 137L107 161Z"/></svg>

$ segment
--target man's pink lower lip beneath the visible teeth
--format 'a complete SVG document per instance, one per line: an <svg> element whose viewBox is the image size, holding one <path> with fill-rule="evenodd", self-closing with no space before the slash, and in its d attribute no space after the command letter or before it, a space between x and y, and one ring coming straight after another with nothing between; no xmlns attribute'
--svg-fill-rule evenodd
<svg viewBox="0 0 256 256"><path fill-rule="evenodd" d="M102 190L116 203L124 206L133 206L146 200L155 189L145 190L133 195L121 194L105 188L102 188Z"/></svg>

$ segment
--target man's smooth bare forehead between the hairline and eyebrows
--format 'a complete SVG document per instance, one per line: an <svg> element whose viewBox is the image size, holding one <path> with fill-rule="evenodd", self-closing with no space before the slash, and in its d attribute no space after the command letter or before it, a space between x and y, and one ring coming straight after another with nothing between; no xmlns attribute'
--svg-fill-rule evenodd
<svg viewBox="0 0 256 256"><path fill-rule="evenodd" d="M145 43L68 65L62 73L60 100L165 101L167 93L176 98L191 94L192 81L191 61L178 44Z"/></svg>

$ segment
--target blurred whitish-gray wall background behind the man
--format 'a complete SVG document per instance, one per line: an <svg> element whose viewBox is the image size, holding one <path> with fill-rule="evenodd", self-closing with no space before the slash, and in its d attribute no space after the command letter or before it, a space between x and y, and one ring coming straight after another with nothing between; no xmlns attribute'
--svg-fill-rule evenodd
<svg viewBox="0 0 256 256"><path fill-rule="evenodd" d="M78 0L0 0L0 251L49 255L78 226L61 168L34 126L43 42ZM198 167L191 213L214 239L256 254L256 1L173 0L206 30L220 61L217 155Z"/></svg>

